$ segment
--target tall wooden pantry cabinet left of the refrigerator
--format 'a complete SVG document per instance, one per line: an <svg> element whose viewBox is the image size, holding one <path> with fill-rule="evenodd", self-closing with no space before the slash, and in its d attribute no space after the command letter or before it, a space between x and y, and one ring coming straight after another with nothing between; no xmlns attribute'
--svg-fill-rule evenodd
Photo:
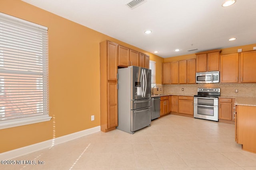
<svg viewBox="0 0 256 170"><path fill-rule="evenodd" d="M117 105L118 44L100 43L100 130L108 132L118 125Z"/></svg>

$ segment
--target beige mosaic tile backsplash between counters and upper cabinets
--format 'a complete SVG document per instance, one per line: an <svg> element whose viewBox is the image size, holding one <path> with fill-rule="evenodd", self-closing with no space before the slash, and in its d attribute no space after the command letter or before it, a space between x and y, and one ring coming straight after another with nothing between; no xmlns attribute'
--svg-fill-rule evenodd
<svg viewBox="0 0 256 170"><path fill-rule="evenodd" d="M196 95L198 88L220 88L221 96L247 96L256 97L256 83L198 83L198 84L157 84L157 86L163 89L162 91L156 91L155 94L174 94L174 95ZM184 91L182 91L184 88ZM235 90L238 89L238 93Z"/></svg>

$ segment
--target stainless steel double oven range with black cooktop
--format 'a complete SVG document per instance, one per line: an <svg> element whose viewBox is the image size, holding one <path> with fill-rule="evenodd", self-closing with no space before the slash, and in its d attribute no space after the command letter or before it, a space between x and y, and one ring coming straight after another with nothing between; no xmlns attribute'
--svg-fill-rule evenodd
<svg viewBox="0 0 256 170"><path fill-rule="evenodd" d="M198 88L194 96L194 117L218 121L220 88Z"/></svg>

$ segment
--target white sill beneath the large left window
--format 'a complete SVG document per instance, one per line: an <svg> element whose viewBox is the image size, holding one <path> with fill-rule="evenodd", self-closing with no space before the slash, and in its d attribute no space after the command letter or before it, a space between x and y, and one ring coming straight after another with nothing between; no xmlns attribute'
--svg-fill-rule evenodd
<svg viewBox="0 0 256 170"><path fill-rule="evenodd" d="M33 123L39 123L43 121L50 121L52 117L49 115L38 115L33 117L24 117L15 120L0 121L0 129L7 129L10 127L17 127L22 125L29 125Z"/></svg>

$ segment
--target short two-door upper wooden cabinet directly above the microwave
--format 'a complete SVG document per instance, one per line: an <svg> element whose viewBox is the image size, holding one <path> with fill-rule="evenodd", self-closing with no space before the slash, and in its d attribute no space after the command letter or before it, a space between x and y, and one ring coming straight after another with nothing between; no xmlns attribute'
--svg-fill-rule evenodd
<svg viewBox="0 0 256 170"><path fill-rule="evenodd" d="M196 72L218 71L220 50L196 53Z"/></svg>

